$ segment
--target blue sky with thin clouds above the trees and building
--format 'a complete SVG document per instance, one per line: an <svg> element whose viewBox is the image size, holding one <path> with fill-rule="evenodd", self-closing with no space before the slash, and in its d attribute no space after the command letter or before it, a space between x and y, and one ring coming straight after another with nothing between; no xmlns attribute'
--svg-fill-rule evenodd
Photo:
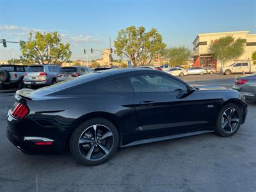
<svg viewBox="0 0 256 192"><path fill-rule="evenodd" d="M256 1L67 1L0 0L0 38L27 40L30 29L58 31L69 42L72 59L83 49L109 47L118 30L128 26L156 28L168 47L192 49L198 33L245 31L256 33ZM0 45L0 61L19 58L18 45ZM88 53L89 60L100 58Z"/></svg>

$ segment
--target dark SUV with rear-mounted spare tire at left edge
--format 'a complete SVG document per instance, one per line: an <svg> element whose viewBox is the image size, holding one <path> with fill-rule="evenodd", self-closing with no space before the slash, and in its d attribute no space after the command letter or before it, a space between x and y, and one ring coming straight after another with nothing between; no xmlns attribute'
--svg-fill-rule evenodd
<svg viewBox="0 0 256 192"><path fill-rule="evenodd" d="M0 88L6 86L18 86L23 88L23 75L28 66L26 65L0 65Z"/></svg>

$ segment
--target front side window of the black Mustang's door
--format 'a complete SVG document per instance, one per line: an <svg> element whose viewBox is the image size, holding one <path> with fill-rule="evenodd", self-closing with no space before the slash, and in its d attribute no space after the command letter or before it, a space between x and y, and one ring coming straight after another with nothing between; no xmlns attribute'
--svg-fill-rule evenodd
<svg viewBox="0 0 256 192"><path fill-rule="evenodd" d="M147 74L128 77L134 92L175 92L186 90L185 84L172 77Z"/></svg>

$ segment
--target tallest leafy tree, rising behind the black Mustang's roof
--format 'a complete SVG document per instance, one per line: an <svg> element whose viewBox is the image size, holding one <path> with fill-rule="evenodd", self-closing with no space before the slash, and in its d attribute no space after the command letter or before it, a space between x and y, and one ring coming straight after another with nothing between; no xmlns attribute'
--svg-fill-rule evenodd
<svg viewBox="0 0 256 192"><path fill-rule="evenodd" d="M135 26L118 31L114 44L115 53L129 58L134 66L150 63L166 47L157 29L146 32L145 28Z"/></svg>

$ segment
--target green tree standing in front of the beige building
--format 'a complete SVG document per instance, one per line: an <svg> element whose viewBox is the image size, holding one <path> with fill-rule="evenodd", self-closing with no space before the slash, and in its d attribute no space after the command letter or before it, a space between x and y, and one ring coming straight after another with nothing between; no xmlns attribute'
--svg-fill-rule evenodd
<svg viewBox="0 0 256 192"><path fill-rule="evenodd" d="M211 42L209 51L214 55L217 60L220 60L221 67L225 62L241 56L244 52L244 45L246 40L233 36L223 36Z"/></svg>

